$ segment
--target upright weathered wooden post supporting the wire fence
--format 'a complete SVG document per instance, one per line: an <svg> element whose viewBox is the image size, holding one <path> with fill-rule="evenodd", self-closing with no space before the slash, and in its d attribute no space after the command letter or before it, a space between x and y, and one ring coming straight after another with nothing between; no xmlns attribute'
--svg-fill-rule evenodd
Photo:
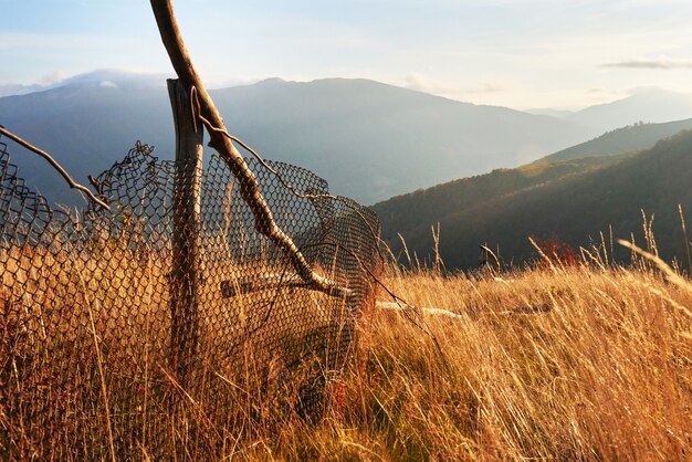
<svg viewBox="0 0 692 462"><path fill-rule="evenodd" d="M193 115L191 87L169 80L168 95L176 128L170 353L176 379L185 388L199 340L202 125Z"/></svg>

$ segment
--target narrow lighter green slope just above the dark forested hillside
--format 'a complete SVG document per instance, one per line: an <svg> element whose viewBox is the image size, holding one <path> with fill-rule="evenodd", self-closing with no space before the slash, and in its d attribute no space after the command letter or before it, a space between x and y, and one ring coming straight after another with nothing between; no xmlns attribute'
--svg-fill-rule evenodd
<svg viewBox="0 0 692 462"><path fill-rule="evenodd" d="M692 128L692 118L664 124L635 124L608 132L598 138L563 149L536 160L554 162L587 156L612 156L621 153L648 149L657 141Z"/></svg>

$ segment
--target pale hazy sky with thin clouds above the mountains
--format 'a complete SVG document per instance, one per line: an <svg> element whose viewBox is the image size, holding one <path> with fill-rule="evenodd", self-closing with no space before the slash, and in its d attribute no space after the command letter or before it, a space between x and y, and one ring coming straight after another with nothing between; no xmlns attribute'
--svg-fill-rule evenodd
<svg viewBox="0 0 692 462"><path fill-rule="evenodd" d="M365 77L515 108L692 87L692 0L176 0L208 86ZM0 85L171 67L146 0L0 0Z"/></svg>

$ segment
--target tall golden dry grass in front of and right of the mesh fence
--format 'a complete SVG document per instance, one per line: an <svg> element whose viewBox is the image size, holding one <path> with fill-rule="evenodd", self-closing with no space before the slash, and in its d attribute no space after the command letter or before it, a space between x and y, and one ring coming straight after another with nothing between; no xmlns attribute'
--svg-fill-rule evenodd
<svg viewBox="0 0 692 462"><path fill-rule="evenodd" d="M208 459L209 448L219 460L689 460L692 284L644 259L636 263L476 279L390 266L382 283L391 292L460 316L365 313L354 359L328 382L321 422L273 399L229 399L231 417L208 419L195 413L202 406L192 397L191 416L145 410L143 419L159 419L171 433L192 421L205 432L199 447L171 447L171 460ZM2 406L0 435L12 420ZM108 427L114 407L92 411ZM105 445L128 430L91 431ZM132 459L155 459L147 441ZM63 435L55 444L65 445L55 453L70 454L78 442ZM105 447L92 453L113 455Z"/></svg>

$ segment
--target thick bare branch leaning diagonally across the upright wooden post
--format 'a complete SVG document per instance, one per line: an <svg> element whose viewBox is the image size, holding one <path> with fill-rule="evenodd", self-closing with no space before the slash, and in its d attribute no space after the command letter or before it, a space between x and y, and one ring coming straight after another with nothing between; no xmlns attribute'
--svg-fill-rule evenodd
<svg viewBox="0 0 692 462"><path fill-rule="evenodd" d="M258 180L231 140L223 135L228 132L223 119L205 85L195 70L190 54L182 41L170 0L150 0L158 30L170 57L170 62L182 83L197 88L200 102L200 119L209 132L209 146L226 160L238 179L240 195L254 216L254 227L261 234L271 239L289 258L297 274L312 287L328 294L347 296L350 290L335 285L328 279L315 273L293 240L276 224L269 204L262 197Z"/></svg>

